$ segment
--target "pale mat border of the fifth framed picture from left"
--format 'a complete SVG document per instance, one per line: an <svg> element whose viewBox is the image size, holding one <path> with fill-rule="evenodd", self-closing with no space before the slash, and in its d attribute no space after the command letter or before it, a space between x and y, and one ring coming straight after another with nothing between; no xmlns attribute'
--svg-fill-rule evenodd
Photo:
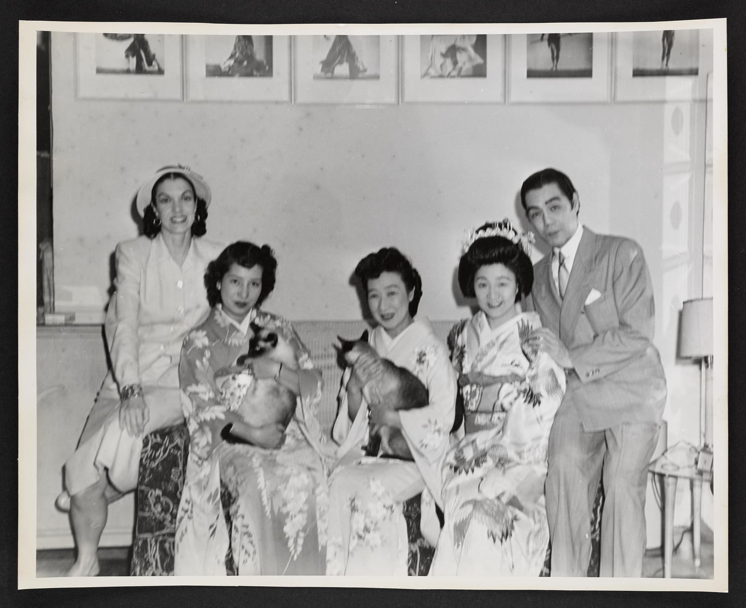
<svg viewBox="0 0 746 608"><path fill-rule="evenodd" d="M563 24L564 25L564 24ZM580 25L580 24L579 24ZM567 31L567 30L565 30ZM570 30L574 33L574 31ZM526 40L528 34L510 34L508 38L508 102L577 102L611 101L610 57L611 32L577 32L593 34L593 75L591 78L527 78Z"/></svg>

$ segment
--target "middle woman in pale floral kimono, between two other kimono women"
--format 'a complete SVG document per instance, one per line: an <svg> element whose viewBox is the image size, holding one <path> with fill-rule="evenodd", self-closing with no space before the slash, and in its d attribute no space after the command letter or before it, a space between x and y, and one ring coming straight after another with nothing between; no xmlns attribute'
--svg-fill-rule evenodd
<svg viewBox="0 0 746 608"><path fill-rule="evenodd" d="M377 322L369 343L380 357L415 374L429 401L413 410L369 404L360 383L350 381L354 372L345 371L333 427L339 463L330 477L327 574L406 576L404 501L422 493L423 535L434 545L439 533L435 503L440 504L440 463L454 424L456 374L430 324L413 319L421 280L403 254L395 248L369 254L355 276ZM361 364L366 362L358 360L354 369ZM401 430L413 461L366 456L369 425Z"/></svg>

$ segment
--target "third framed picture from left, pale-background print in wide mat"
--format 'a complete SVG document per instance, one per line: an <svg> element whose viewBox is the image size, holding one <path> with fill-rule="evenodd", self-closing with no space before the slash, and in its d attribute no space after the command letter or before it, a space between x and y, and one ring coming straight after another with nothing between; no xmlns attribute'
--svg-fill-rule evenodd
<svg viewBox="0 0 746 608"><path fill-rule="evenodd" d="M397 37L296 36L299 104L398 102Z"/></svg>

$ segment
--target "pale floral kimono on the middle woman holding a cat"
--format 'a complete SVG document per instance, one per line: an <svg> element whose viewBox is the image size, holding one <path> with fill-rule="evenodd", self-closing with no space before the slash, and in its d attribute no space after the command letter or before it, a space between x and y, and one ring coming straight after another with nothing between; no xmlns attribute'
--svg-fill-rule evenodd
<svg viewBox="0 0 746 608"><path fill-rule="evenodd" d="M406 576L409 542L404 501L422 492L422 533L433 545L438 535L433 498L440 504L440 464L454 423L456 374L445 345L427 321L414 321L395 338L376 327L369 342L381 357L413 372L426 386L430 401L419 410L399 410L414 462L366 457L368 406L363 398L357 416L350 420L351 372L345 370L333 427L339 463L330 477L327 574Z"/></svg>

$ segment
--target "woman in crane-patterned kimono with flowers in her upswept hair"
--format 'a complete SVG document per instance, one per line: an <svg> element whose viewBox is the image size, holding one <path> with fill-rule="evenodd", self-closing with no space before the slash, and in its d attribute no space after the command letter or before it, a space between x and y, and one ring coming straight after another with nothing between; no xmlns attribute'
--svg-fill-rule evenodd
<svg viewBox="0 0 746 608"><path fill-rule="evenodd" d="M430 574L538 576L549 542L544 498L549 431L565 374L527 348L541 324L521 313L533 267L533 234L506 219L471 231L459 286L479 312L454 327L466 436L442 468L445 524Z"/></svg>

